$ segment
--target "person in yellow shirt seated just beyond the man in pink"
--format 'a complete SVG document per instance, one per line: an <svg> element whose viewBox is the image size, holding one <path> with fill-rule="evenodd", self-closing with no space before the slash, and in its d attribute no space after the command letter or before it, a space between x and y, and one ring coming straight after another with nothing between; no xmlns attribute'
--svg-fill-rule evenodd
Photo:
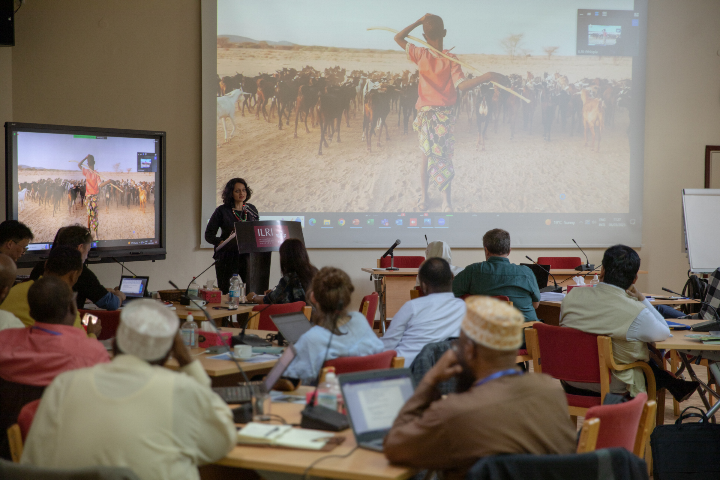
<svg viewBox="0 0 720 480"><path fill-rule="evenodd" d="M50 250L50 257L48 261L45 262L45 276L60 277L62 281L72 288L82 272L82 256L78 250L68 247L67 245L62 245ZM25 281L22 284L12 287L5 301L0 304L0 309L14 314L15 317L18 317L27 327L35 325L35 320L30 317L30 305L27 303L27 291L30 290L30 286L32 286L33 283L33 281ZM42 319L39 318L37 321L42 322ZM73 326L82 328L79 313L75 318ZM88 326L89 334L99 335L99 332L99 322Z"/></svg>

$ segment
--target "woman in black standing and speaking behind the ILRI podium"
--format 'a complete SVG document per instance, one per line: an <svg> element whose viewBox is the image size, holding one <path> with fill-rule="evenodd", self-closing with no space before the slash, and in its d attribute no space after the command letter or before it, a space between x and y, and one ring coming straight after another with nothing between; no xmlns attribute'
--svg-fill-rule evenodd
<svg viewBox="0 0 720 480"><path fill-rule="evenodd" d="M222 205L212 213L210 221L205 229L205 240L212 245L220 245L235 231L235 222L254 222L260 218L255 205L248 204L253 191L243 178L232 178L222 189ZM217 236L217 229L220 229L220 237ZM243 282L248 281L248 258L249 253L238 253L237 248L225 248L222 252L215 252L212 258L215 263L215 275L217 286L223 294L230 291L230 278L233 273L238 273Z"/></svg>

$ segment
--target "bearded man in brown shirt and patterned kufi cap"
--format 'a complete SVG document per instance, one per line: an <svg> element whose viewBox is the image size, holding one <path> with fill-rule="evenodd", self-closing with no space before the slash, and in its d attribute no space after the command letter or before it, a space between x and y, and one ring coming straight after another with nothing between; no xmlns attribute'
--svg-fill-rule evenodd
<svg viewBox="0 0 720 480"><path fill-rule="evenodd" d="M420 381L384 440L392 463L443 470L461 480L479 458L575 452L564 391L549 376L516 368L523 314L490 296L470 296L456 345ZM455 376L457 393L436 385Z"/></svg>

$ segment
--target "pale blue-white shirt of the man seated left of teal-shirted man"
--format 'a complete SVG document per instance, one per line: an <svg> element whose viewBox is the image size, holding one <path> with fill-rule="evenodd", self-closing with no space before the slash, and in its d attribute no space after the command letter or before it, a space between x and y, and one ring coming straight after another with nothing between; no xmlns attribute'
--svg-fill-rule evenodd
<svg viewBox="0 0 720 480"><path fill-rule="evenodd" d="M400 307L380 340L385 350L405 357L409 367L428 343L458 337L464 316L465 302L451 291L420 296Z"/></svg>

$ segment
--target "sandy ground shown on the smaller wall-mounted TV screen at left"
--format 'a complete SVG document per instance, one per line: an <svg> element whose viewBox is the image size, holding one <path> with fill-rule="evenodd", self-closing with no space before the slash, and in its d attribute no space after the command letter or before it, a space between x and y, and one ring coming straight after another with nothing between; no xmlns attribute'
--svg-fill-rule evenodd
<svg viewBox="0 0 720 480"><path fill-rule="evenodd" d="M154 181L155 173L132 172L132 173L114 173L99 172L100 176L105 180L127 179L132 178L136 182ZM84 179L80 171L24 171L18 172L18 181L35 181L40 178L68 178L73 180ZM148 204L145 207L145 214L140 210L139 205L130 204L117 205L114 201L110 205L109 213L106 212L104 200L101 199L98 205L99 240L117 240L121 238L152 238L155 236L155 206L154 195L148 198ZM30 227L35 240L33 242L52 242L58 228L65 225L78 223L87 226L87 210L86 207L80 206L80 198L78 197L76 205L68 211L67 201L63 201L60 209L55 211L53 215L53 205L47 204L45 207L39 205L37 201L31 201L29 198L24 202L24 210L20 212L18 207L18 219L25 225Z"/></svg>

